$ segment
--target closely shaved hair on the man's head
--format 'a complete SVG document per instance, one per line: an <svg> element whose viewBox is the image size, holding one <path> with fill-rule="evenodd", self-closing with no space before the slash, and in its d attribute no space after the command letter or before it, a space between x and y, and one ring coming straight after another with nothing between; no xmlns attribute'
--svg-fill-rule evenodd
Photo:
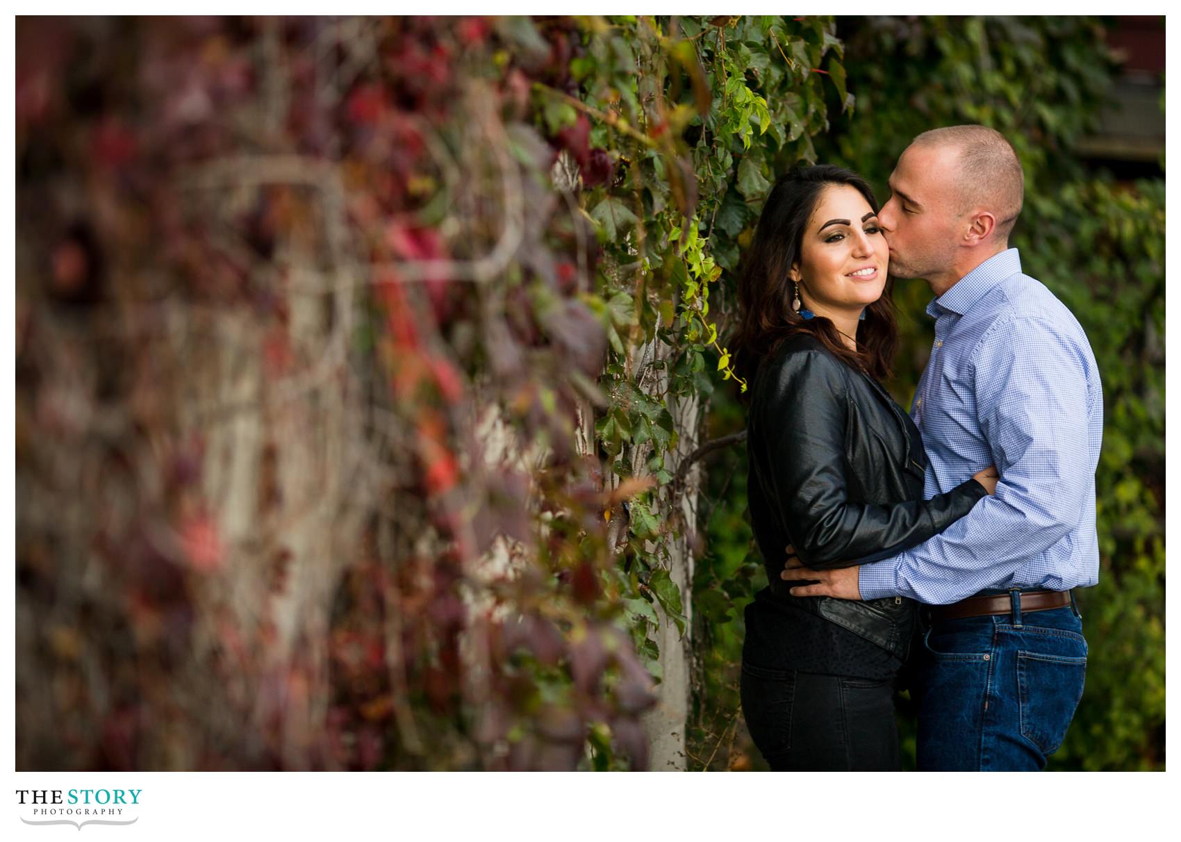
<svg viewBox="0 0 1181 842"><path fill-rule="evenodd" d="M1007 242L1022 213L1025 175L1004 135L983 125L952 125L922 132L911 146L955 150L960 213L991 211L997 220L993 237Z"/></svg>

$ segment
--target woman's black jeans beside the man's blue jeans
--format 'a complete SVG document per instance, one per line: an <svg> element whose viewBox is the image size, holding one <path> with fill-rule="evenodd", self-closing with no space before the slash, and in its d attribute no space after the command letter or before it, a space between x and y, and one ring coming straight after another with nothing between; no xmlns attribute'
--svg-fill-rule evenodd
<svg viewBox="0 0 1181 842"><path fill-rule="evenodd" d="M898 771L894 681L743 664L742 709L775 771Z"/></svg>

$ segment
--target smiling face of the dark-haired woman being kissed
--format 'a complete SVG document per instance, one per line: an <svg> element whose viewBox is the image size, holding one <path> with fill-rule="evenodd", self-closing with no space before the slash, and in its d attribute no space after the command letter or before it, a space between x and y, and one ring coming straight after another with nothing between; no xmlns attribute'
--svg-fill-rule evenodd
<svg viewBox="0 0 1181 842"><path fill-rule="evenodd" d="M856 318L881 298L888 269L889 247L866 197L850 184L826 187L791 269L803 306L817 315Z"/></svg>

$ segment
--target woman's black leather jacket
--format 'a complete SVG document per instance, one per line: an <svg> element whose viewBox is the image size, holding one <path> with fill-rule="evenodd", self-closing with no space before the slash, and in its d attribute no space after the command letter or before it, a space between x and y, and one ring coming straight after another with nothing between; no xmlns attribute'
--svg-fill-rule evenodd
<svg viewBox="0 0 1181 842"><path fill-rule="evenodd" d="M909 416L868 374L814 337L784 340L763 361L748 416L751 526L775 601L818 614L899 658L914 603L791 596L779 579L794 544L814 569L887 559L968 513L987 491L968 479L922 500L927 457Z"/></svg>

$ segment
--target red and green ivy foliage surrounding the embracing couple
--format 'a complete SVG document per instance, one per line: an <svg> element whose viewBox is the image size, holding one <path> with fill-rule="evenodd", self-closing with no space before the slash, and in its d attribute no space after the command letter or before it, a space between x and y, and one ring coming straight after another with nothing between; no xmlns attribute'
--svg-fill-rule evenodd
<svg viewBox="0 0 1181 842"><path fill-rule="evenodd" d="M757 763L740 248L967 120L1104 376L1059 756L1162 763L1163 187L1069 168L1092 22L965 20L18 19L17 766Z"/></svg>

